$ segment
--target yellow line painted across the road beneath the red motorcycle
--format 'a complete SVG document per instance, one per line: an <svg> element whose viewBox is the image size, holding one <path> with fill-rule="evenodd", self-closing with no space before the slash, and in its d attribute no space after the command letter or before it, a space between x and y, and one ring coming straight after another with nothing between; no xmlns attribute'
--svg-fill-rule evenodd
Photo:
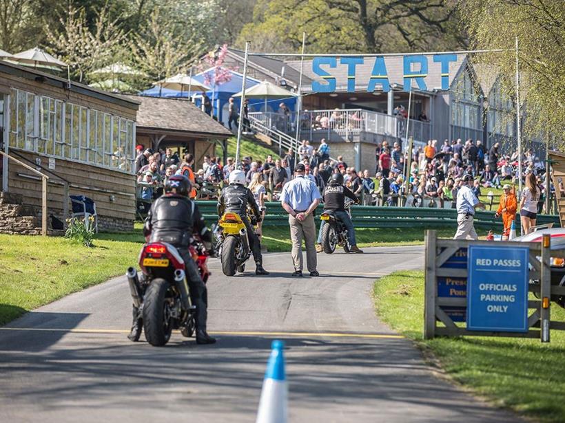
<svg viewBox="0 0 565 423"><path fill-rule="evenodd" d="M126 329L62 329L45 327L0 327L0 331L29 331L29 332L68 332L71 334L129 334ZM178 332L178 331L174 331ZM210 331L212 335L225 336L287 336L291 338L326 337L326 338L365 338L365 339L402 339L404 336L395 334L355 334L339 332L231 332Z"/></svg>

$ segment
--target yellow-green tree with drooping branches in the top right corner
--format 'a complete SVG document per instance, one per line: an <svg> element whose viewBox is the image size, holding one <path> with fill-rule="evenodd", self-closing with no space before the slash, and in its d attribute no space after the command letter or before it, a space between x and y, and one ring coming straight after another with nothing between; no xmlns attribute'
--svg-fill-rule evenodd
<svg viewBox="0 0 565 423"><path fill-rule="evenodd" d="M463 23L478 49L473 60L501 74L502 91L515 98L515 37L520 46L520 100L526 137L540 135L565 147L565 7L550 0L460 1ZM486 93L488 94L488 93Z"/></svg>

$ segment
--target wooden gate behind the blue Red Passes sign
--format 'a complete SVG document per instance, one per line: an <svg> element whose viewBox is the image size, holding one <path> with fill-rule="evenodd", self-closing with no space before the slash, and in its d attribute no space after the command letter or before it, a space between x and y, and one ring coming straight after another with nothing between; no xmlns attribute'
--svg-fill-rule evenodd
<svg viewBox="0 0 565 423"><path fill-rule="evenodd" d="M464 321L457 318L464 316L467 305L467 265L466 253L469 246L496 246L499 248L529 248L528 279L540 281L528 285L528 292L537 294L540 299L528 299L528 309L533 310L528 316L528 332L482 332L466 329ZM424 338L435 336L511 336L522 338L540 338L549 342L549 329L565 330L565 322L551 321L551 296L565 295L565 287L551 285L551 257L565 257L565 250L551 250L551 239L544 235L542 243L466 241L438 239L435 230L426 234L425 258L425 303L424 303ZM453 260L458 257L459 260ZM451 260L451 266L446 263ZM457 265L460 263L461 265ZM438 283L442 278L449 278L450 283L458 288L455 296L440 296ZM455 321L454 321L455 320Z"/></svg>

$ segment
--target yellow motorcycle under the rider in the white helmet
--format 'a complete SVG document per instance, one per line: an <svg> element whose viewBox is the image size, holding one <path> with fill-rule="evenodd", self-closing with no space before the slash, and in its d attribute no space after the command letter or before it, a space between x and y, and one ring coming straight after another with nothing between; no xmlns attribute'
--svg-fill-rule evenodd
<svg viewBox="0 0 565 423"><path fill-rule="evenodd" d="M251 226L256 226L254 216L251 217ZM245 262L251 257L251 247L247 228L240 215L226 212L220 217L216 233L218 257L222 263L222 272L226 276L234 276L236 272L245 272Z"/></svg>

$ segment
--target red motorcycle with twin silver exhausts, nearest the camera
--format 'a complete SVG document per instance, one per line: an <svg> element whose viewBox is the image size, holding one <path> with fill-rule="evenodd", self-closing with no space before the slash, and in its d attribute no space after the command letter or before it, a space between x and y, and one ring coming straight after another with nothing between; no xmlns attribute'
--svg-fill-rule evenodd
<svg viewBox="0 0 565 423"><path fill-rule="evenodd" d="M211 274L207 267L209 254L200 239L189 246L189 253L206 283ZM139 265L141 277L133 267L126 272L137 323L128 338L139 340L143 328L147 342L160 347L170 340L173 329L181 329L187 338L192 336L196 306L190 301L181 254L170 243L146 243L139 254Z"/></svg>

